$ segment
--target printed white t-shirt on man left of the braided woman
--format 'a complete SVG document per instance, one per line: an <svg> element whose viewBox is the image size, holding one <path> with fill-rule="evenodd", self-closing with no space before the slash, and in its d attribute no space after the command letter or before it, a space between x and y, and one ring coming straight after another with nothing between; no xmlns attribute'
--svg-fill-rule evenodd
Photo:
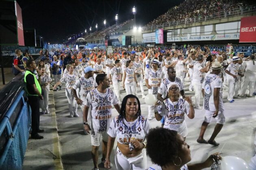
<svg viewBox="0 0 256 170"><path fill-rule="evenodd" d="M100 93L93 89L87 94L85 105L91 106L91 130L92 132L105 132L112 120L112 104L118 104L117 96L112 89L106 89L106 93Z"/></svg>

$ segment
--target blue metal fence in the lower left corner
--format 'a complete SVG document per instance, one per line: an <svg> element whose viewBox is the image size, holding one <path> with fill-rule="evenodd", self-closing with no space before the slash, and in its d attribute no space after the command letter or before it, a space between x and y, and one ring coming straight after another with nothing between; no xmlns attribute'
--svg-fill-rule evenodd
<svg viewBox="0 0 256 170"><path fill-rule="evenodd" d="M6 140L1 148L0 169L22 169L31 127L31 110L24 100L24 93L24 90L22 90L20 94L18 94L12 106L0 122L1 139ZM21 109L17 110L17 106L20 106ZM18 116L12 117L16 111L18 111ZM14 122L13 119L15 119Z"/></svg>

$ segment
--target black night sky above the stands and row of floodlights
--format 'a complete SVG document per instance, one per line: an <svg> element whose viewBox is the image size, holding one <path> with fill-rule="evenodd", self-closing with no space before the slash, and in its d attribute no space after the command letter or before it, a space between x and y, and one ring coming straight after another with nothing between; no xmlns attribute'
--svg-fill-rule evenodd
<svg viewBox="0 0 256 170"><path fill-rule="evenodd" d="M17 0L22 8L23 28L35 28L45 42L63 43L71 34L104 28L134 18L137 26L144 26L183 0Z"/></svg>

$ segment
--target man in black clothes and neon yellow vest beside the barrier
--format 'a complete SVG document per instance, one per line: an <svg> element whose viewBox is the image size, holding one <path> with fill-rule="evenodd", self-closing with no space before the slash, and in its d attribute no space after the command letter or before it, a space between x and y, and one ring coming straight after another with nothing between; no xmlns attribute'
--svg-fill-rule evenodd
<svg viewBox="0 0 256 170"><path fill-rule="evenodd" d="M26 84L26 93L28 95L28 104L31 108L31 123L32 123L32 139L42 139L43 136L40 136L38 133L44 132L44 130L39 129L39 121L40 121L40 113L39 113L39 104L40 100L43 100L43 96L41 95L41 74L38 75L38 80L35 76L34 70L36 69L35 61L28 60L27 62L27 70L24 76L24 82Z"/></svg>

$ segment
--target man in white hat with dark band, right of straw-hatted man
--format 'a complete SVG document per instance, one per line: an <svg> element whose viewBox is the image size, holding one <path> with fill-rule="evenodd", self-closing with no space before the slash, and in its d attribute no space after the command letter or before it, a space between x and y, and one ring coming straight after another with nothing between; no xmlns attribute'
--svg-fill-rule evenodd
<svg viewBox="0 0 256 170"><path fill-rule="evenodd" d="M236 63L240 60L239 57L234 56L232 57L232 63L228 65L228 68L225 70L227 74L227 81L228 81L228 101L230 103L234 102L234 89L236 88L237 82L238 82L238 75L243 76L238 72L238 67Z"/></svg>

